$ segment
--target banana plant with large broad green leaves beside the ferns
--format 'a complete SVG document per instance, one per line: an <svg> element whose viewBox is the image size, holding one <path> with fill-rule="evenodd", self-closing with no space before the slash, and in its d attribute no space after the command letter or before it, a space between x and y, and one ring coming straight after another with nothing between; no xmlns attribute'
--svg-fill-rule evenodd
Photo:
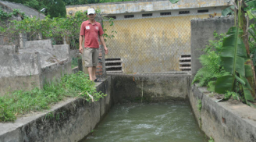
<svg viewBox="0 0 256 142"><path fill-rule="evenodd" d="M220 55L224 69L231 75L221 76L217 79L215 92L224 94L226 91L236 91L237 80L243 87L244 98L247 105L253 105L251 101L254 102L254 98L251 92L254 92L254 90L251 88L251 83L249 83L248 80L253 78L254 73L252 72L250 56L244 44L244 39L242 39L242 36L244 36L244 29L242 29L243 24L246 24L241 22L244 18L242 15L244 14L242 12L242 2L243 1L239 1L237 5L236 3L234 5L238 24L235 24L235 27L231 27L227 32L227 36L222 43L222 52Z"/></svg>

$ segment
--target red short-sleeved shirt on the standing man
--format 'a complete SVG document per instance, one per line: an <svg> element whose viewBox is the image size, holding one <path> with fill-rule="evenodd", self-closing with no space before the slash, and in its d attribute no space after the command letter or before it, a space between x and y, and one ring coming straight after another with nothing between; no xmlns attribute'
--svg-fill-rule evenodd
<svg viewBox="0 0 256 142"><path fill-rule="evenodd" d="M94 22L91 24L89 20L81 24L80 35L84 35L84 47L99 48L98 35L104 34L101 23Z"/></svg>

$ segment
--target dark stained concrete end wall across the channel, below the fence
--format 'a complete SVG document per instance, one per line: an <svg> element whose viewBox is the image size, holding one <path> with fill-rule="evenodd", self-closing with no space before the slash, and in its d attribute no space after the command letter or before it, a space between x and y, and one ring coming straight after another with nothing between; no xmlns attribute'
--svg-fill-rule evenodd
<svg viewBox="0 0 256 142"><path fill-rule="evenodd" d="M189 74L112 76L114 103L188 101Z"/></svg>

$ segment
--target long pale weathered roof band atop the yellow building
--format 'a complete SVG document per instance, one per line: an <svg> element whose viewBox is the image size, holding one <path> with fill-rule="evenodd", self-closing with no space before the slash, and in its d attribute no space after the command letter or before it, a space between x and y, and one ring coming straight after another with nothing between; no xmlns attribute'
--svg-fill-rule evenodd
<svg viewBox="0 0 256 142"><path fill-rule="evenodd" d="M169 1L162 0L146 0L146 1L130 1L130 2L109 2L103 4L90 4L90 5L69 5L66 6L66 12L86 11L88 8L101 9L101 12L105 14L120 14L129 12L151 12L158 10L170 10L170 9L194 9L205 7L218 7L227 6L231 4L226 0L180 0L176 4L172 4Z"/></svg>

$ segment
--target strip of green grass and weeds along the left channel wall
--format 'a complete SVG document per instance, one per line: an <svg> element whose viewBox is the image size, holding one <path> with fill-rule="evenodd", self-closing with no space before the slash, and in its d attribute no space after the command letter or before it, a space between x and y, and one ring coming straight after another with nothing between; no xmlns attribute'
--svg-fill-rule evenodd
<svg viewBox="0 0 256 142"><path fill-rule="evenodd" d="M43 89L35 87L31 91L14 91L0 97L0 122L15 121L17 115L49 109L51 105L67 97L91 101L88 94L93 96L94 101L106 96L96 91L95 83L83 72L62 76L59 82L47 83Z"/></svg>

